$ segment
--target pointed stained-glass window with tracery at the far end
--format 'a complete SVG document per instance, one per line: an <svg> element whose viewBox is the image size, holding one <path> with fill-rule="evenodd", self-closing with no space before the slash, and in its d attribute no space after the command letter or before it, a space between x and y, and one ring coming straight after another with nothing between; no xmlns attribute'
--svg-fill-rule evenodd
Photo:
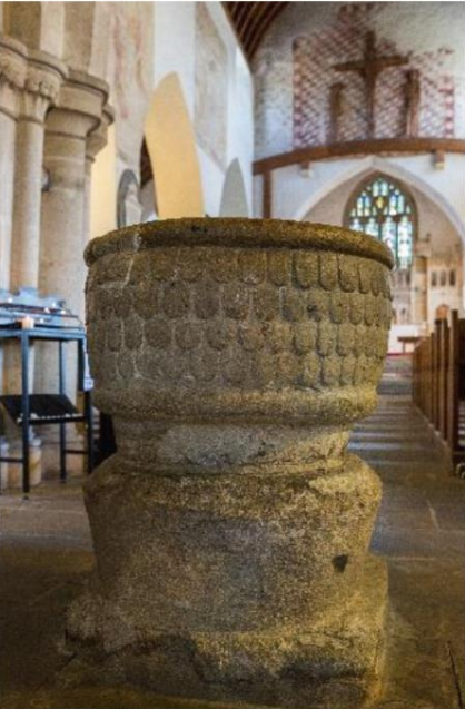
<svg viewBox="0 0 465 709"><path fill-rule="evenodd" d="M346 209L346 226L380 239L398 268L410 268L415 238L415 206L390 177L377 175L358 187Z"/></svg>

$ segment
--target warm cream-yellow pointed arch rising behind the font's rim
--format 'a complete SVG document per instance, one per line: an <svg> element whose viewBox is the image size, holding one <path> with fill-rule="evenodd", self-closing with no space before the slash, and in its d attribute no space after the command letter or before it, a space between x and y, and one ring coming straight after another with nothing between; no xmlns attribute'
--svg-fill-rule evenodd
<svg viewBox="0 0 465 709"><path fill-rule="evenodd" d="M204 196L192 124L177 73L154 92L145 125L161 219L202 217Z"/></svg>

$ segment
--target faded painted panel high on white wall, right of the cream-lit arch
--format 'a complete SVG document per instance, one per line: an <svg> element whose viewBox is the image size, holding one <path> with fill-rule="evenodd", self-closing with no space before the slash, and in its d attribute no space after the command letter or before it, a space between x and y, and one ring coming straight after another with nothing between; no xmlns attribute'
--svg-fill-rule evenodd
<svg viewBox="0 0 465 709"><path fill-rule="evenodd" d="M196 3L195 126L204 150L226 168L228 55L206 3Z"/></svg>

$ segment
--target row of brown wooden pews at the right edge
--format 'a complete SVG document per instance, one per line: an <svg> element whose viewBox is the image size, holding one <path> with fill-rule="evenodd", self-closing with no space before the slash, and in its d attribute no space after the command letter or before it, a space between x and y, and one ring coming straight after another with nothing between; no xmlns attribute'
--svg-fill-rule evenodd
<svg viewBox="0 0 465 709"><path fill-rule="evenodd" d="M413 353L413 398L465 474L465 319L436 321Z"/></svg>

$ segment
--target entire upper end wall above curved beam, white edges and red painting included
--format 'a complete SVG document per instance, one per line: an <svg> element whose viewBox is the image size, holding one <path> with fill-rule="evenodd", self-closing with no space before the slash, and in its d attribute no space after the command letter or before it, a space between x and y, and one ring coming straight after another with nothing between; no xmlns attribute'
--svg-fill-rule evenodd
<svg viewBox="0 0 465 709"><path fill-rule="evenodd" d="M289 7L254 65L257 156L369 138L464 137L465 27L453 6Z"/></svg>

